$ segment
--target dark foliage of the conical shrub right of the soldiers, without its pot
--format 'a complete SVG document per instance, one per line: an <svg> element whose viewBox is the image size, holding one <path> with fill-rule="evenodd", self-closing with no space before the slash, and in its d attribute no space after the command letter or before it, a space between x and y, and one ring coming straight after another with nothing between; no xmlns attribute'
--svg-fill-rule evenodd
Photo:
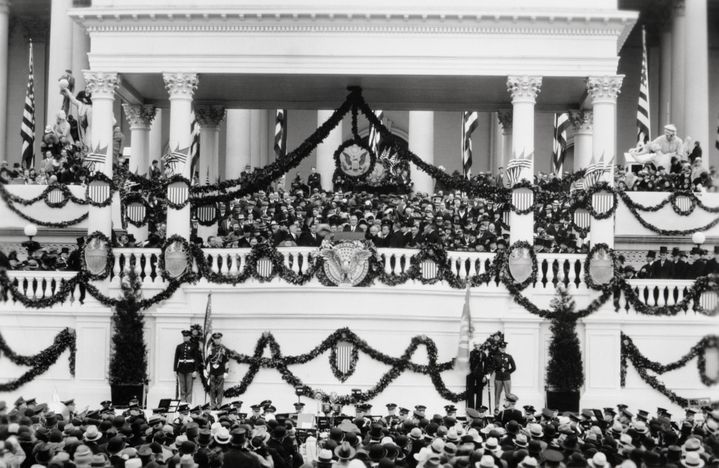
<svg viewBox="0 0 719 468"><path fill-rule="evenodd" d="M548 387L560 391L579 391L584 385L584 368L576 330L574 299L566 288L559 286L551 307L554 314L546 383Z"/></svg>

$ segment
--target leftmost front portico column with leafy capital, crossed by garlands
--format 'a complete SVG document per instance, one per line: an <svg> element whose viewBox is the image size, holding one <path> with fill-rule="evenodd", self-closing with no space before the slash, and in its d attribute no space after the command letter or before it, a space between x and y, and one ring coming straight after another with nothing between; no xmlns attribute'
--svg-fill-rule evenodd
<svg viewBox="0 0 719 468"><path fill-rule="evenodd" d="M105 162L97 163L95 169L112 179L112 125L115 90L119 85L117 73L83 72L87 90L92 93L92 141L91 151L104 150ZM100 231L106 236L112 234L112 205L89 207L88 233Z"/></svg>

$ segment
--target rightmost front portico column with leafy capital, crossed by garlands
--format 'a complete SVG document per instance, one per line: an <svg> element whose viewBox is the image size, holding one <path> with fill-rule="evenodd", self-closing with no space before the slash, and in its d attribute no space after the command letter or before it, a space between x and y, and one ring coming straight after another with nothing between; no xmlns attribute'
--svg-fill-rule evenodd
<svg viewBox="0 0 719 468"><path fill-rule="evenodd" d="M611 160L617 148L617 96L622 87L623 75L592 76L587 78L587 93L592 100L594 114L594 133L592 135L592 154L597 159L604 156ZM613 165L604 175L604 182L614 185ZM601 211L602 194L595 194L592 200L594 209ZM604 196L606 198L606 196ZM606 206L607 200L604 200ZM604 243L614 247L614 217L591 219L590 241L592 244Z"/></svg>

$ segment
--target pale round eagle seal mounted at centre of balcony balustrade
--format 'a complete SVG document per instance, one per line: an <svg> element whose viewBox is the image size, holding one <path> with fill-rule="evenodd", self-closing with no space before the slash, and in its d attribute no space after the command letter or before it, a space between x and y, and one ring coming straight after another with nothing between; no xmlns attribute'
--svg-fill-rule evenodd
<svg viewBox="0 0 719 468"><path fill-rule="evenodd" d="M360 241L343 241L336 244L325 243L320 250L324 258L324 271L338 286L356 286L369 271L369 258L372 252Z"/></svg>

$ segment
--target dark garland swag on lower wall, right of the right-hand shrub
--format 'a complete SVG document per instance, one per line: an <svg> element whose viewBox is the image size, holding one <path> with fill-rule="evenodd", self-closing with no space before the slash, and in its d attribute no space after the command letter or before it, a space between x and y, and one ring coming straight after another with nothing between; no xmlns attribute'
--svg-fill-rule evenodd
<svg viewBox="0 0 719 468"><path fill-rule="evenodd" d="M683 398L673 391L669 390L664 382L659 380L656 375L662 375L666 372L670 372L681 367L684 367L689 361L697 358L697 370L699 371L699 377L704 385L707 387L716 385L719 383L719 379L713 379L707 375L706 370L706 350L709 348L717 348L719 346L719 336L707 335L697 344L692 346L687 354L680 357L674 362L669 364L661 364L656 361L644 356L639 348L634 344L634 341L624 333L621 334L621 386L626 385L627 378L627 366L628 362L631 362L634 368L637 370L639 377L654 390L658 391L665 397L667 397L672 403L679 406L686 407L688 405L688 399Z"/></svg>

